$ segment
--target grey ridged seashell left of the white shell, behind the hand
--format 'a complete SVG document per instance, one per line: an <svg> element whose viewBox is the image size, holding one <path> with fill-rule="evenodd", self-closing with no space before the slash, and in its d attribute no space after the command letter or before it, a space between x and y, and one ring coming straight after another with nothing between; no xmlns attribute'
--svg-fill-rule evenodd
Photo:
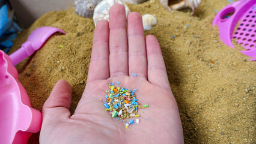
<svg viewBox="0 0 256 144"><path fill-rule="evenodd" d="M102 0L75 0L74 8L76 14L82 17L93 18L93 11Z"/></svg>

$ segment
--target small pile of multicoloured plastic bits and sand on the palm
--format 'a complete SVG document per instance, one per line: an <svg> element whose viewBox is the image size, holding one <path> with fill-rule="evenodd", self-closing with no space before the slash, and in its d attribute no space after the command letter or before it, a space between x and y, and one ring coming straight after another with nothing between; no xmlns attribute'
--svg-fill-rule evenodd
<svg viewBox="0 0 256 144"><path fill-rule="evenodd" d="M117 84L119 83L120 82L117 82ZM106 91L107 95L104 101L104 106L106 107L105 110L109 111L112 118L118 117L117 120L121 119L122 122L125 122L125 119L139 117L140 115L137 114L138 109L145 109L145 107L148 107L148 104L141 106L141 104L137 102L138 100L135 96L136 89L131 91L124 87L115 87L114 83L109 83L109 88L111 90ZM126 122L127 130L130 130L128 126L133 124L133 122L134 119L131 119L130 122ZM136 123L139 124L139 119L136 119Z"/></svg>

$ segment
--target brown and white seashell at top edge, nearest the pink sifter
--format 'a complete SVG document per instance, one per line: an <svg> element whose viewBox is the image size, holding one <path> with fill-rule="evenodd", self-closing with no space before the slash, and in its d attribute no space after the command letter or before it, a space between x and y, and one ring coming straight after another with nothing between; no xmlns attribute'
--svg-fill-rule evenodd
<svg viewBox="0 0 256 144"><path fill-rule="evenodd" d="M180 10L181 8L189 7L192 8L192 15L201 3L201 0L183 0L178 4L168 5L168 0L160 0L161 4L169 11Z"/></svg>

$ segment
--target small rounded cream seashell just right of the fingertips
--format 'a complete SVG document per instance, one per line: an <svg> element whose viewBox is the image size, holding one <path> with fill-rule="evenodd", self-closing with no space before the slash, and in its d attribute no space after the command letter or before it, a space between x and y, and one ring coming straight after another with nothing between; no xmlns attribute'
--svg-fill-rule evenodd
<svg viewBox="0 0 256 144"><path fill-rule="evenodd" d="M151 14L145 14L142 16L143 28L145 30L150 30L157 24L156 17L152 16Z"/></svg>

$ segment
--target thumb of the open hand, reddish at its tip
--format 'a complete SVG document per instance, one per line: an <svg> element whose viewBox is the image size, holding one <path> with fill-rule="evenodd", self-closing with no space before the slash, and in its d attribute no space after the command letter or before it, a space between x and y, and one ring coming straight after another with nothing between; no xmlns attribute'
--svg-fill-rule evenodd
<svg viewBox="0 0 256 144"><path fill-rule="evenodd" d="M59 80L43 105L43 120L69 118L72 87L66 80Z"/></svg>

